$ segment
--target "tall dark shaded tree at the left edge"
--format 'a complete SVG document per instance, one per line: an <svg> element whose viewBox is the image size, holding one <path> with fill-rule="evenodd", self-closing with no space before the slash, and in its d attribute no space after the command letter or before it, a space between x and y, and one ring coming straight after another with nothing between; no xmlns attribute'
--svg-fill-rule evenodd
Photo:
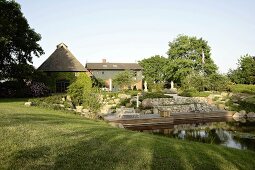
<svg viewBox="0 0 255 170"><path fill-rule="evenodd" d="M6 77L15 65L32 63L33 55L42 55L40 40L40 34L30 28L20 5L0 0L0 78Z"/></svg>

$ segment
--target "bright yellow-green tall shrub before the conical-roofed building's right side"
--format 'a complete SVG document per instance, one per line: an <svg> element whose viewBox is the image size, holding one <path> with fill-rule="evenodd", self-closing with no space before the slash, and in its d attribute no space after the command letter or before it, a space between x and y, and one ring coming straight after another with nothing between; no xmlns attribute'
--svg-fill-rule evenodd
<svg viewBox="0 0 255 170"><path fill-rule="evenodd" d="M91 79L85 73L80 73L77 79L68 87L67 93L71 96L75 105L81 105L91 89Z"/></svg>

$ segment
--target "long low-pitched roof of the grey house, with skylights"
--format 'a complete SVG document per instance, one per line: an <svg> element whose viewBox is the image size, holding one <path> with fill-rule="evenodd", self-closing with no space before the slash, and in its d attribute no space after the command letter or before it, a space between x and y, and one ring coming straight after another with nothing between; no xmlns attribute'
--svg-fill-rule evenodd
<svg viewBox="0 0 255 170"><path fill-rule="evenodd" d="M87 63L88 70L142 70L137 63Z"/></svg>

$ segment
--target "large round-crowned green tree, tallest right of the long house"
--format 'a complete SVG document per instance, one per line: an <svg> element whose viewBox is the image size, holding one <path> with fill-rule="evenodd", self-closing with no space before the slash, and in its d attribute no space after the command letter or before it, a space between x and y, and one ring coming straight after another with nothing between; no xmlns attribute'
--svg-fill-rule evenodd
<svg viewBox="0 0 255 170"><path fill-rule="evenodd" d="M216 73L217 66L211 58L211 48L207 41L195 36L179 35L172 42L169 42L167 51L170 65L177 65L179 73L189 74L191 69L196 72L203 72L205 75ZM176 63L176 64L174 64ZM169 74L175 74L168 72ZM171 77L171 76L169 76ZM175 75L175 77L178 77ZM181 79L181 77L178 77Z"/></svg>

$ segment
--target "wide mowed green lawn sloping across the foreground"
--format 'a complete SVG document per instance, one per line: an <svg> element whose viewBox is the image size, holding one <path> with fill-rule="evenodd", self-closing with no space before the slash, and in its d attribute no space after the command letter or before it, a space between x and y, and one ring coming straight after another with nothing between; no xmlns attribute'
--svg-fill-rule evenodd
<svg viewBox="0 0 255 170"><path fill-rule="evenodd" d="M255 169L255 152L0 100L0 169Z"/></svg>

